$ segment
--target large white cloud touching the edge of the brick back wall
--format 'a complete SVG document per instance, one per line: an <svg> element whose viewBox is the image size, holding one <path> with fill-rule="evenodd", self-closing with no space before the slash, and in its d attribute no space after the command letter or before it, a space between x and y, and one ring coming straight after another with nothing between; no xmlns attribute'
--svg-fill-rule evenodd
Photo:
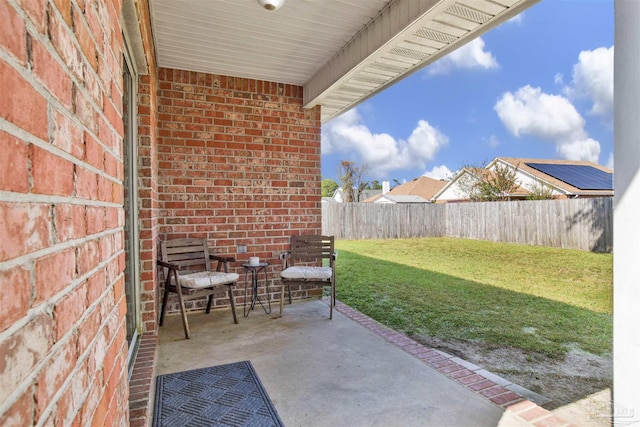
<svg viewBox="0 0 640 427"><path fill-rule="evenodd" d="M373 133L361 120L355 108L332 120L322 130L322 154L355 153L373 175L385 177L393 170L424 169L449 141L425 120L418 121L406 141Z"/></svg>

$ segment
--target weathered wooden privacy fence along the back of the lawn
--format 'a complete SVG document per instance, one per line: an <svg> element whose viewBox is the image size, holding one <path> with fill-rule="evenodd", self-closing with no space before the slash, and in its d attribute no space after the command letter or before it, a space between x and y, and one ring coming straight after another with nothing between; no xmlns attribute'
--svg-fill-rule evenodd
<svg viewBox="0 0 640 427"><path fill-rule="evenodd" d="M338 239L459 237L611 252L613 198L478 203L323 203Z"/></svg>

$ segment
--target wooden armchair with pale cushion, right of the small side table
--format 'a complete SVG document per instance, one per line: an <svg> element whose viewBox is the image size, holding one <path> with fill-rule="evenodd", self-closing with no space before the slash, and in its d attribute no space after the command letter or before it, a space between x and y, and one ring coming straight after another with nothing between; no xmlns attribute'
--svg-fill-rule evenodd
<svg viewBox="0 0 640 427"><path fill-rule="evenodd" d="M332 319L333 306L336 304L337 258L333 236L291 236L291 250L282 254L281 258L280 316L284 307L285 287L289 290L291 303L291 286L330 286L329 319ZM325 260L326 262L323 262Z"/></svg>

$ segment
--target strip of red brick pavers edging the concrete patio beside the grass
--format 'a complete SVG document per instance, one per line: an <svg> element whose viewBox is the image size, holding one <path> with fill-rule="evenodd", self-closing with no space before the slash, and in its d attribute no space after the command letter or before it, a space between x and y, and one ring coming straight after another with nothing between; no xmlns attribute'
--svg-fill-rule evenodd
<svg viewBox="0 0 640 427"><path fill-rule="evenodd" d="M324 298L324 300L327 303L329 302L328 298ZM499 377L478 366L440 350L422 345L340 301L336 302L336 309L438 372L533 426L565 427L574 425L525 399L518 393L498 384L495 380Z"/></svg>

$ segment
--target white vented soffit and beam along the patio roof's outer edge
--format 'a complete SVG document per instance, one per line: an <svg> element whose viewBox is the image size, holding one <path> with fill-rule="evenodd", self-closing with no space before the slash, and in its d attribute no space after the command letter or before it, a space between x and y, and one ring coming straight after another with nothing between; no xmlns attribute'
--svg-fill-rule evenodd
<svg viewBox="0 0 640 427"><path fill-rule="evenodd" d="M415 0L407 0L408 2ZM322 121L354 107L395 81L424 68L438 58L512 18L538 0L441 0L424 2L421 10L395 36L377 46L372 43L384 26L406 15L413 5L398 0L376 17L305 85L305 105L322 105ZM363 50L368 55L355 63ZM350 70L339 71L352 63ZM331 81L334 78L334 81ZM366 85L363 83L371 83ZM323 87L324 86L324 87ZM358 95L357 98L349 95Z"/></svg>

